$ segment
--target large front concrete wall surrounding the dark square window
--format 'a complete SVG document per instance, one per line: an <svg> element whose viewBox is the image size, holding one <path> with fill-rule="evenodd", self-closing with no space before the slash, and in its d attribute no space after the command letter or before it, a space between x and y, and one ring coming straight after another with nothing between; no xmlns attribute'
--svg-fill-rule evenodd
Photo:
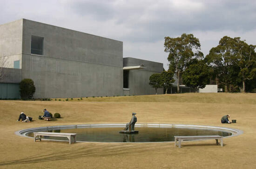
<svg viewBox="0 0 256 169"><path fill-rule="evenodd" d="M44 38L42 56L31 36ZM122 95L122 42L23 19L22 79L35 98Z"/></svg>

